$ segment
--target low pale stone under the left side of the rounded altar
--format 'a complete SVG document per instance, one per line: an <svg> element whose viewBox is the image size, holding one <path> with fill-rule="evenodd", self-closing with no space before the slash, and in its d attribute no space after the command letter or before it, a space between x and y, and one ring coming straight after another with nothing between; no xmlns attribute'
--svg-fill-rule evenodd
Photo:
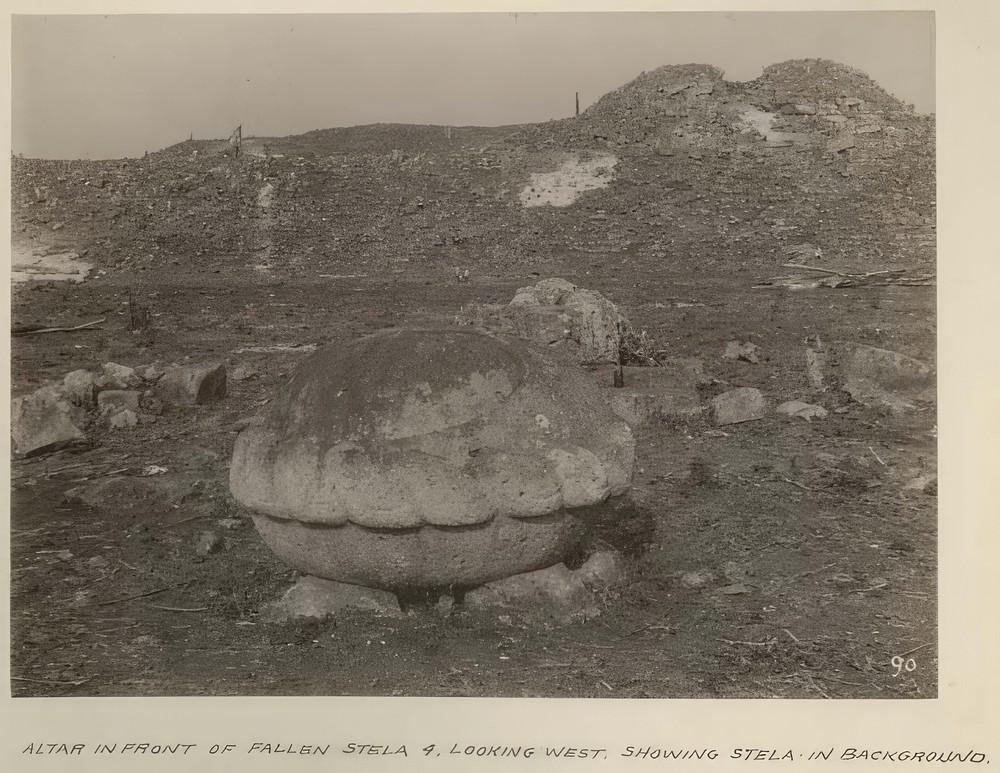
<svg viewBox="0 0 1000 773"><path fill-rule="evenodd" d="M265 605L260 617L265 622L281 623L351 611L373 612L380 617L402 615L396 596L388 591L306 575L296 580L281 599Z"/></svg>

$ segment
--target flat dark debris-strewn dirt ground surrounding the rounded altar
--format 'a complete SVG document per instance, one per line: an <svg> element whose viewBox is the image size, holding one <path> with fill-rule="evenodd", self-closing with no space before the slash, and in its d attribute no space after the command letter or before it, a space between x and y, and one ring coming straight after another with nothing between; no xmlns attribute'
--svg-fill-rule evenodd
<svg viewBox="0 0 1000 773"><path fill-rule="evenodd" d="M705 305L660 309L665 285L636 279L618 289L588 277L611 298L624 294L633 317L678 354L714 353L706 359L717 377L789 399L802 394L806 335L860 330L888 343L905 329L912 341L920 323L910 315L927 325L933 303L930 288L777 296L726 276L678 276L666 286ZM855 404L822 421L727 427L727 437L710 436L707 421L640 430L638 512L605 535L632 554L634 579L586 623L538 630L459 608L400 620L258 622L259 606L293 573L228 497L227 459L239 420L304 355L234 349L357 335L418 313L446 317L471 300L509 297L516 284L306 285L244 275L206 287L164 276L149 285L169 319L163 334L137 340L112 317L99 332L18 341L18 371L39 381L98 360L186 354L259 375L231 382L219 406L173 409L127 436L109 432L94 450L15 464L15 695L936 693L935 497L905 488L920 470L934 471L933 411L900 418ZM95 281L29 295L72 315L114 309L124 290ZM248 304L252 313L230 311ZM243 340L203 321L223 311L233 328L282 327ZM725 341L749 331L764 361L722 360ZM157 482L152 492L125 486L99 508L65 501L81 479L137 476L153 464L170 472L140 479ZM198 535L225 518L239 519L221 530L225 550L199 556ZM917 668L894 676L893 656L918 647Z"/></svg>

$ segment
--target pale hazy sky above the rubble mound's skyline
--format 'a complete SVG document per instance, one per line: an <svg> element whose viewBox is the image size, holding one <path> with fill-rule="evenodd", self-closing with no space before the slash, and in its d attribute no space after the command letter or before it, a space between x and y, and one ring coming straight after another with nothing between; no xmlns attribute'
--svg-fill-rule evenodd
<svg viewBox="0 0 1000 773"><path fill-rule="evenodd" d="M793 58L934 110L927 12L15 16L12 145L141 156L187 139L570 116L664 64L750 80Z"/></svg>

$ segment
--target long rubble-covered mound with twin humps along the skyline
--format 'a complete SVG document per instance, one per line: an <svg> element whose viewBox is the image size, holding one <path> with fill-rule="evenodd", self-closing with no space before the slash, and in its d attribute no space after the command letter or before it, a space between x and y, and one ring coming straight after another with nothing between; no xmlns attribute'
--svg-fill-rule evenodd
<svg viewBox="0 0 1000 773"><path fill-rule="evenodd" d="M748 83L660 67L529 126L189 140L12 172L15 251L72 250L97 272L523 276L572 256L764 278L803 249L862 271L934 262L933 116L826 60Z"/></svg>

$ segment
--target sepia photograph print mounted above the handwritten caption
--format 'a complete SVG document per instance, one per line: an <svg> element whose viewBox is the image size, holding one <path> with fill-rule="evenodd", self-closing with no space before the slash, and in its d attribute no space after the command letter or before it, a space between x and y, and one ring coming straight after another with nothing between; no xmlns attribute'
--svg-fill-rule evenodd
<svg viewBox="0 0 1000 773"><path fill-rule="evenodd" d="M11 32L14 698L938 697L932 12Z"/></svg>

